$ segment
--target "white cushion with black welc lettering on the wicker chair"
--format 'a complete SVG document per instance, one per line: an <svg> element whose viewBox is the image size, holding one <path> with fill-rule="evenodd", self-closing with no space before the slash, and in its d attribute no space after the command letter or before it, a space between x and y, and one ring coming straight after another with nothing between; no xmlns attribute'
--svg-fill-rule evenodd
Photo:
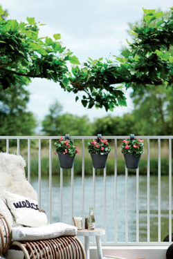
<svg viewBox="0 0 173 259"><path fill-rule="evenodd" d="M40 227L48 223L45 211L39 210L36 200L5 191L11 213L18 224L27 227Z"/></svg>

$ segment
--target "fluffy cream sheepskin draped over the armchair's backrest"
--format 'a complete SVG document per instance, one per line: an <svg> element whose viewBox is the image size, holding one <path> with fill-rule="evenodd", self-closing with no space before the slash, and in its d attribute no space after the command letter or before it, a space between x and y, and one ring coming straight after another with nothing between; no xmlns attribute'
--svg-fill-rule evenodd
<svg viewBox="0 0 173 259"><path fill-rule="evenodd" d="M0 153L0 198L6 198L3 190L37 200L37 193L26 180L26 162L21 155Z"/></svg>

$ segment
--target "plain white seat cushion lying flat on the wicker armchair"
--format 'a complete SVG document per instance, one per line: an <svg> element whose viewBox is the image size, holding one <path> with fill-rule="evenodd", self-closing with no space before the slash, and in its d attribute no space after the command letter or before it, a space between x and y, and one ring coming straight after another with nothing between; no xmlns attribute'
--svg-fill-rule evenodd
<svg viewBox="0 0 173 259"><path fill-rule="evenodd" d="M12 240L44 240L58 236L75 236L77 227L62 222L43 227L13 227Z"/></svg>

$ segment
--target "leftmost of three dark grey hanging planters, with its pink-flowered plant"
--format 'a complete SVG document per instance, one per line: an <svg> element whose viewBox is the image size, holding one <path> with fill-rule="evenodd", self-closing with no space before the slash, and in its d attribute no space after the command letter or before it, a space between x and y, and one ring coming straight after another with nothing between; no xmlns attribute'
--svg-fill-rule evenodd
<svg viewBox="0 0 173 259"><path fill-rule="evenodd" d="M77 146L69 140L69 134L66 134L65 138L61 137L60 140L55 142L56 154L60 160L60 167L62 169L72 169L75 154L80 153Z"/></svg>

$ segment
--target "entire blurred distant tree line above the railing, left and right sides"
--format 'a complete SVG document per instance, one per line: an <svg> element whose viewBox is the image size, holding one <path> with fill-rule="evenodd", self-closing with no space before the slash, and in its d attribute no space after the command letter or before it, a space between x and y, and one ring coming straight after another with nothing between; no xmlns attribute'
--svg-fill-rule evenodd
<svg viewBox="0 0 173 259"><path fill-rule="evenodd" d="M27 88L28 86L26 86ZM0 135L35 135L37 119L27 111L29 93L23 86L0 93ZM89 120L86 115L63 113L59 102L51 104L42 121L43 135L172 135L173 95L171 88L156 86L131 95L134 111L122 117L108 114Z"/></svg>

